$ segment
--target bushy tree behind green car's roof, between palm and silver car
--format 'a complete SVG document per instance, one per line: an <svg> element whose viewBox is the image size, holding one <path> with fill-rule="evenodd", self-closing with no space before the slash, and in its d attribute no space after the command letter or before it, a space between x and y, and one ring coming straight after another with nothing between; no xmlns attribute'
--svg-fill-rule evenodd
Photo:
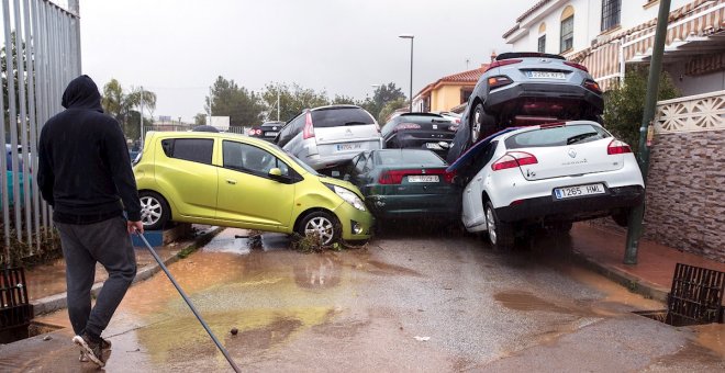
<svg viewBox="0 0 725 373"><path fill-rule="evenodd" d="M234 80L216 78L204 109L214 116L228 116L232 126L250 126L261 121L264 105L259 95L237 86Z"/></svg>

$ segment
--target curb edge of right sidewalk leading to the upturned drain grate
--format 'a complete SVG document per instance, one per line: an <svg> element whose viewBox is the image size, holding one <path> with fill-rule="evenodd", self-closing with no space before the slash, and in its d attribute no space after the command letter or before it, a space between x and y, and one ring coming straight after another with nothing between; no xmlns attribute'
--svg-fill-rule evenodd
<svg viewBox="0 0 725 373"><path fill-rule="evenodd" d="M585 253L572 250L573 259L584 268L592 270L616 283L626 287L629 292L639 294L646 298L651 298L667 303L669 290L658 286L649 281L643 280L631 273L622 271L618 268L607 267L587 256Z"/></svg>

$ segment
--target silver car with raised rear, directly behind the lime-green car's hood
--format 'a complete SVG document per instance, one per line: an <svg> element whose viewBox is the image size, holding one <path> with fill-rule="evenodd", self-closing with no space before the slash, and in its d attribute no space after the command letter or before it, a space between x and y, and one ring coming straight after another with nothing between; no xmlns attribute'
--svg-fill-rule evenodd
<svg viewBox="0 0 725 373"><path fill-rule="evenodd" d="M277 145L315 170L333 169L360 151L381 149L378 122L356 105L305 109L282 127Z"/></svg>

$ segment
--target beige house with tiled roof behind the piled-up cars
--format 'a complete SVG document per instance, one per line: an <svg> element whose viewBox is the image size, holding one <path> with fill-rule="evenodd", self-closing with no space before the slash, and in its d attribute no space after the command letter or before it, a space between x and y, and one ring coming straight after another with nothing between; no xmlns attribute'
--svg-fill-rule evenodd
<svg viewBox="0 0 725 373"><path fill-rule="evenodd" d="M465 104L488 67L482 64L477 69L449 75L425 86L413 98L413 111L445 112Z"/></svg>

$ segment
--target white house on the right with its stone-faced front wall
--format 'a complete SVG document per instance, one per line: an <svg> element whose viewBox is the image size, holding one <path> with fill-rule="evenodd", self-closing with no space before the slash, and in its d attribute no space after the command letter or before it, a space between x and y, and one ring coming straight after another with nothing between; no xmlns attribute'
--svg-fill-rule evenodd
<svg viewBox="0 0 725 373"><path fill-rule="evenodd" d="M603 89L651 59L659 1L542 0L504 35L560 54ZM657 106L645 236L725 262L725 0L672 0L662 69L683 97Z"/></svg>

